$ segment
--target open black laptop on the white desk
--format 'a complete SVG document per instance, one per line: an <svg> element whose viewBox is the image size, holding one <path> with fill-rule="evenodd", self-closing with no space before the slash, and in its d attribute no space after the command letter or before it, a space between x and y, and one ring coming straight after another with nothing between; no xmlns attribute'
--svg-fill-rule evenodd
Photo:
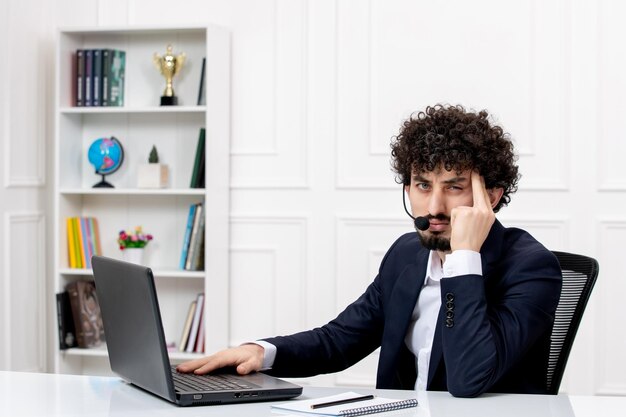
<svg viewBox="0 0 626 417"><path fill-rule="evenodd" d="M181 406L297 397L302 387L261 372L182 374L170 365L152 270L92 258L111 370L131 384Z"/></svg>

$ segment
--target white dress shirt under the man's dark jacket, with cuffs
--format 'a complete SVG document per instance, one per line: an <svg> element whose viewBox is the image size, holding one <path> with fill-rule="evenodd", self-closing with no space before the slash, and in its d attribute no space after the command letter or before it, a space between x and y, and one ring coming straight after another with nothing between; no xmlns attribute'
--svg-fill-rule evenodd
<svg viewBox="0 0 626 417"><path fill-rule="evenodd" d="M411 322L404 338L407 347L415 355L416 390L426 390L428 383L430 353L435 337L437 316L441 307L440 280L467 274L482 275L480 253L470 250L457 250L446 255L446 261L442 264L437 252L430 251L424 285L413 309ZM261 370L271 369L276 358L276 346L264 340L252 343L265 349Z"/></svg>

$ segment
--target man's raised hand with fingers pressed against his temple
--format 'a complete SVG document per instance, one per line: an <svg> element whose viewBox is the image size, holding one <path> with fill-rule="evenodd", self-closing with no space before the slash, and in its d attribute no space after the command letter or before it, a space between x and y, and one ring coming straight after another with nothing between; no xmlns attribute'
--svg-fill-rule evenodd
<svg viewBox="0 0 626 417"><path fill-rule="evenodd" d="M474 196L472 207L455 207L450 213L452 251L466 249L480 252L496 220L489 193L485 188L485 179L476 171L472 171L472 194Z"/></svg>

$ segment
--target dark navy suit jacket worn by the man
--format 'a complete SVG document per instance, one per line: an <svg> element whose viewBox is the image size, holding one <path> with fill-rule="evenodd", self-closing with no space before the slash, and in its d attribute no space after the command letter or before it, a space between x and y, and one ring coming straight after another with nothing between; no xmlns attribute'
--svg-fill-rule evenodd
<svg viewBox="0 0 626 417"><path fill-rule="evenodd" d="M496 220L481 248L483 275L441 280L429 390L546 393L550 333L561 291L557 259L527 232ZM404 338L426 274L429 251L401 236L378 276L336 319L313 330L265 339L277 348L268 373L337 372L378 347L377 388L413 389L415 357Z"/></svg>

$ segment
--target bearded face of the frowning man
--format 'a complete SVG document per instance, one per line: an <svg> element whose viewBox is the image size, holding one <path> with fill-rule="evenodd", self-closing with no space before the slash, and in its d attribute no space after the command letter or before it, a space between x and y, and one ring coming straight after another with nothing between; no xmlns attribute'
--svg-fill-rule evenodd
<svg viewBox="0 0 626 417"><path fill-rule="evenodd" d="M430 221L428 230L417 230L422 245L430 250L450 251L450 213L458 206L472 206L471 171L413 172L411 184L405 187L414 217Z"/></svg>

